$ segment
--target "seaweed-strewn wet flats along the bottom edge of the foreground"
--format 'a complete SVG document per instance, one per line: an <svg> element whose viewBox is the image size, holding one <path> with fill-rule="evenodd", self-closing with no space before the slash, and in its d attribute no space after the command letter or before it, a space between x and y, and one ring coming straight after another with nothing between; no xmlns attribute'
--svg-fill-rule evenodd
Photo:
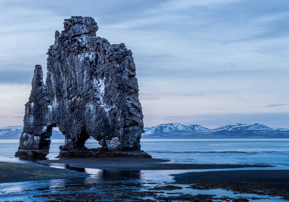
<svg viewBox="0 0 289 202"><path fill-rule="evenodd" d="M194 194L196 190L222 189L227 190L227 196L215 194ZM162 182L150 180L140 183L138 179L130 178L118 182L102 182L100 184L71 184L66 186L48 186L32 192L35 201L251 201L266 199L289 200L288 190L273 189L268 183L234 183L229 181L196 180L185 183ZM226 192L226 191L225 191ZM279 197L279 198L278 198Z"/></svg>

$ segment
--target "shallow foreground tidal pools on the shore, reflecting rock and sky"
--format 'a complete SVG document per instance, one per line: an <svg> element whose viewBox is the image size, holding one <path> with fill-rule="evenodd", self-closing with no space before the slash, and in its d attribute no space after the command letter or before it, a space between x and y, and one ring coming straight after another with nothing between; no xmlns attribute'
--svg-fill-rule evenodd
<svg viewBox="0 0 289 202"><path fill-rule="evenodd" d="M94 171L92 171L94 170ZM83 186L87 184L121 184L125 186L116 187L112 186L109 188L109 191L112 193L119 192L120 190L127 189L131 191L147 191L149 188L155 186L167 185L169 182L173 182L173 179L168 174L172 172L166 171L117 171L117 170L98 170L90 169L88 173L94 173L90 177L84 178L74 178L74 179L53 179L48 181L32 181L32 182L18 182L18 183L3 183L0 187L0 201L47 201L48 198L45 197L35 197L42 194L56 194L56 193L66 193L66 194L75 194L79 192L88 192L93 193L102 192L103 190L69 190L69 187ZM173 173L179 173L181 171L173 171ZM150 183L157 184L150 184ZM139 186L130 186L129 183L134 183ZM260 199L260 201L279 201L286 202L281 200L280 197L268 197L268 196L258 196L255 194L234 194L231 191L226 191L223 189L213 189L213 190L194 190L187 188L188 185L174 184L175 186L180 186L183 189L181 190L168 190L165 193L160 192L158 195L163 196L177 196L178 194L171 193L184 193L184 194L213 194L217 197L227 196L227 197L261 197L266 198ZM63 188L68 188L68 190L63 191ZM149 199L150 197L143 197L143 199ZM219 200L220 201L220 200ZM251 201L251 200L250 200ZM259 201L259 200L253 200Z"/></svg>

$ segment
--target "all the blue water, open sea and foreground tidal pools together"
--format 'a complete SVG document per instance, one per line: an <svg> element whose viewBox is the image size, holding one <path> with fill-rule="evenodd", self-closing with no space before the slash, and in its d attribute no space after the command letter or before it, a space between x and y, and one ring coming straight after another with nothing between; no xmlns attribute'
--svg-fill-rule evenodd
<svg viewBox="0 0 289 202"><path fill-rule="evenodd" d="M47 156L53 159L58 155L59 146L64 140L52 139L50 153ZM18 140L0 140L0 161L34 163L23 161L14 157L19 145ZM86 147L99 147L98 142L89 139ZM289 169L289 139L141 139L141 148L151 154L153 158L171 160L178 163L209 163L209 164L265 164L276 167L257 169ZM61 168L61 165L59 166ZM65 166L63 165L63 168ZM246 168L254 169L254 168ZM84 169L90 177L81 179L54 179L43 182L18 182L0 184L0 201L45 201L44 198L35 198L40 194L39 188L64 187L72 183L91 184L107 182L174 182L169 174L187 172L184 170L173 171L118 171ZM203 171L203 170L194 170ZM133 179L132 179L133 178ZM132 180L132 181L131 181ZM153 186L153 185L146 185ZM145 189L145 188L144 188ZM31 191L24 191L31 190ZM35 191L38 190L38 191ZM117 190L115 190L117 191ZM192 190L183 189L182 192L189 194L216 194L218 196L236 197L233 192L225 190ZM44 191L43 191L44 193ZM246 194L239 194L246 196ZM252 196L252 194L251 194ZM254 195L253 195L254 196ZM48 200L48 199L46 199ZM254 200L256 201L256 200ZM258 201L258 200L257 200ZM278 197L268 197L261 201L284 201Z"/></svg>

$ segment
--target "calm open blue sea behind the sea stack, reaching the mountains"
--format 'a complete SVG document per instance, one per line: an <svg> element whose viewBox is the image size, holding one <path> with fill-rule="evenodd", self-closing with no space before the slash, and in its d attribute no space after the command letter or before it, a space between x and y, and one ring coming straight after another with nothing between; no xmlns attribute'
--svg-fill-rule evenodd
<svg viewBox="0 0 289 202"><path fill-rule="evenodd" d="M63 144L62 139L52 139L47 157L55 158ZM0 139L0 161L21 162L14 157L18 146L19 140ZM85 146L99 144L88 139ZM289 139L141 139L141 148L153 158L178 163L259 163L289 169Z"/></svg>

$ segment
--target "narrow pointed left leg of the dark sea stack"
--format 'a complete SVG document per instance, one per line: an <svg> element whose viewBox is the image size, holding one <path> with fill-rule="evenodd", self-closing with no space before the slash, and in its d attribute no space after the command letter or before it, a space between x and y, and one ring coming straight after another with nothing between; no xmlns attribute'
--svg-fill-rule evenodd
<svg viewBox="0 0 289 202"><path fill-rule="evenodd" d="M52 130L47 130L47 111L51 107L40 65L35 66L32 91L25 104L24 128L15 156L44 157L49 154Z"/></svg>

